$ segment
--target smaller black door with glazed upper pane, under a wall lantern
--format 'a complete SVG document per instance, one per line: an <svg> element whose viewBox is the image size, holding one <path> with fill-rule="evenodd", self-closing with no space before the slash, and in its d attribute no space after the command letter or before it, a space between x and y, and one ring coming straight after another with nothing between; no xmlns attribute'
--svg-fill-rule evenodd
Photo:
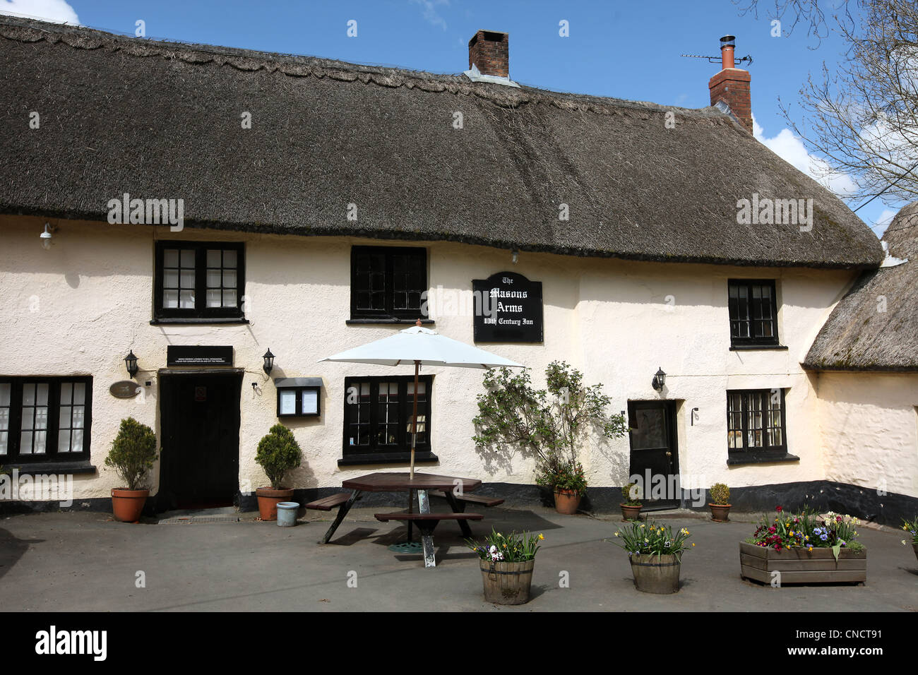
<svg viewBox="0 0 918 675"><path fill-rule="evenodd" d="M642 477L644 511L675 509L681 503L676 403L670 400L628 401L631 431L631 476Z"/></svg>

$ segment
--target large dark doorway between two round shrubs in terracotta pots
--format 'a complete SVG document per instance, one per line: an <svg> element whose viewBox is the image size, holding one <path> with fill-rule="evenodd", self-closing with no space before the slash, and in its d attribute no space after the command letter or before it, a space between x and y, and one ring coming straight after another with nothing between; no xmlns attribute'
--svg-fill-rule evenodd
<svg viewBox="0 0 918 675"><path fill-rule="evenodd" d="M240 373L162 375L159 511L230 506L239 490Z"/></svg>

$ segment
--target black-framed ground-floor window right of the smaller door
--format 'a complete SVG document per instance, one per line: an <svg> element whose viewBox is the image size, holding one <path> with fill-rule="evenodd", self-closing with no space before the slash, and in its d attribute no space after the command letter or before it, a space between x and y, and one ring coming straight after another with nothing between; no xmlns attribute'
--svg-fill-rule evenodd
<svg viewBox="0 0 918 675"><path fill-rule="evenodd" d="M787 453L784 389L727 391L727 449Z"/></svg>

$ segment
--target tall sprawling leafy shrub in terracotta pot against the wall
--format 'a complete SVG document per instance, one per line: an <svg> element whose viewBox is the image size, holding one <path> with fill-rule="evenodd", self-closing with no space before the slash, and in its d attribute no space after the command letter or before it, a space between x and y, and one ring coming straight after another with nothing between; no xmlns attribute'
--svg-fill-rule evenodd
<svg viewBox="0 0 918 675"><path fill-rule="evenodd" d="M528 368L487 370L473 440L487 465L509 468L518 451L532 456L536 483L552 489L558 512L573 513L587 489L577 460L580 445L590 437L617 438L628 427L622 415L606 412L611 399L602 385L585 386L583 374L565 362L545 368L545 383L533 388Z"/></svg>

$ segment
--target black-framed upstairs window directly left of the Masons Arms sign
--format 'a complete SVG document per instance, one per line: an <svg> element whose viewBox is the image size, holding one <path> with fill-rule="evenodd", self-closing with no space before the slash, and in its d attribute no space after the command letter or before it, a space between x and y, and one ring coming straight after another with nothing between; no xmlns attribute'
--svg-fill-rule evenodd
<svg viewBox="0 0 918 675"><path fill-rule="evenodd" d="M427 290L427 249L354 246L351 249L351 319L414 321Z"/></svg>

